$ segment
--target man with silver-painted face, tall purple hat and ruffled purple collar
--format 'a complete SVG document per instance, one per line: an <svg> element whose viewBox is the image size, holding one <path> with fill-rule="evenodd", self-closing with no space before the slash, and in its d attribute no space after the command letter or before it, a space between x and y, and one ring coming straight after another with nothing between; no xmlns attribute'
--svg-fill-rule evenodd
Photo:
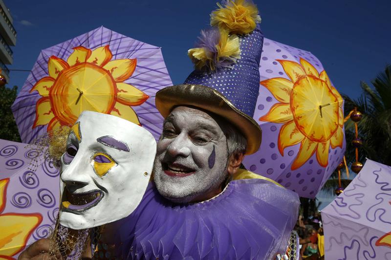
<svg viewBox="0 0 391 260"><path fill-rule="evenodd" d="M154 183L128 218L107 228L106 241L121 259L273 259L286 249L297 194L239 169L261 144L252 118L260 18L244 0L219 7L211 16L216 28L189 50L196 70L184 84L156 94L165 120Z"/></svg>

